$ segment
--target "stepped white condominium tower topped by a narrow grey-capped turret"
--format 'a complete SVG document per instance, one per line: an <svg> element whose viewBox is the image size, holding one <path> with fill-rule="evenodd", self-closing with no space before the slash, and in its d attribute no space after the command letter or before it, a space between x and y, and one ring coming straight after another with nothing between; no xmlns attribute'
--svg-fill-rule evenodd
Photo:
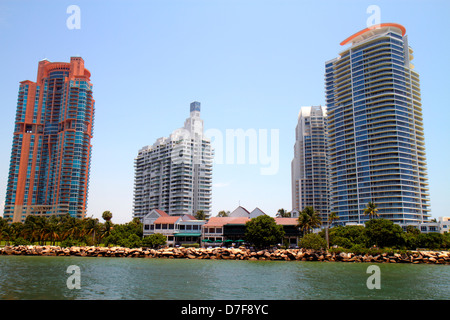
<svg viewBox="0 0 450 320"><path fill-rule="evenodd" d="M139 150L135 159L134 217L151 209L170 215L211 211L213 151L203 135L200 102L190 105L184 127Z"/></svg>

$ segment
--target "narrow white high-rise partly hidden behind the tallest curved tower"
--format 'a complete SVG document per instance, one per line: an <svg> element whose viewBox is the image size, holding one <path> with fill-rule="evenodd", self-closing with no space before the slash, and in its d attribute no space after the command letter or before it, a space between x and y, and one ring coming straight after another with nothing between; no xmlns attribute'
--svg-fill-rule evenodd
<svg viewBox="0 0 450 320"><path fill-rule="evenodd" d="M302 107L295 130L291 162L292 209L313 207L323 221L328 216L326 107Z"/></svg>

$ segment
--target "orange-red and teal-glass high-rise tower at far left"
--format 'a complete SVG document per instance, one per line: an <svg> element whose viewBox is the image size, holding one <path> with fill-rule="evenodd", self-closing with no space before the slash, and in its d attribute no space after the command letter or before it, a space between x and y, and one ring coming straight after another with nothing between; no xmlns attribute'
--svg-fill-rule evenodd
<svg viewBox="0 0 450 320"><path fill-rule="evenodd" d="M19 86L4 218L86 213L94 99L80 57L39 62Z"/></svg>

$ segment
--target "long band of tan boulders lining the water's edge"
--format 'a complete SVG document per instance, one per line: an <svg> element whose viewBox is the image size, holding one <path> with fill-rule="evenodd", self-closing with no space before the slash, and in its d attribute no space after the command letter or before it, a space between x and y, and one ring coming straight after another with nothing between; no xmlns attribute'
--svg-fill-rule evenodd
<svg viewBox="0 0 450 320"><path fill-rule="evenodd" d="M310 249L255 251L245 247L130 249L123 247L87 246L69 248L59 246L6 246L0 248L0 255L450 264L449 251L409 251L403 254L395 253L390 255L388 253L382 253L372 256Z"/></svg>

